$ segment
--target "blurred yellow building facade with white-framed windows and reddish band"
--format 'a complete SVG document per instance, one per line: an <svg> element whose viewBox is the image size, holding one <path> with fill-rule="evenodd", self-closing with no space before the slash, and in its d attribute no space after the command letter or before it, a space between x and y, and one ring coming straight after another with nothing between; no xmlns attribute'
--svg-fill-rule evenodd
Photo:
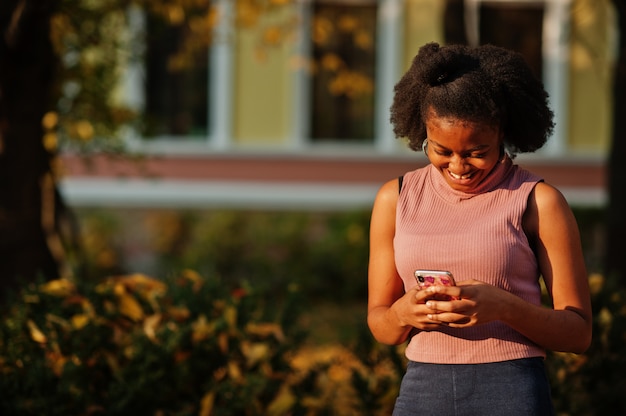
<svg viewBox="0 0 626 416"><path fill-rule="evenodd" d="M280 2L279 2L280 3ZM205 65L172 74L174 29L136 13L143 60L125 97L144 114L132 162L64 156L75 205L352 209L385 181L427 163L393 136L393 87L419 47L462 38L519 50L544 81L556 129L518 163L572 204L605 202L614 13L609 0L286 2L254 29L217 2ZM277 39L280 38L280 41Z"/></svg>

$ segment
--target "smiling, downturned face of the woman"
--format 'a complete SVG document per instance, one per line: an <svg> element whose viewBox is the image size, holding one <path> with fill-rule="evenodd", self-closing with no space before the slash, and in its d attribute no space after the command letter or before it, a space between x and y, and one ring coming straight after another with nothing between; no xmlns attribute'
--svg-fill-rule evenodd
<svg viewBox="0 0 626 416"><path fill-rule="evenodd" d="M496 127L431 112L426 132L428 159L457 191L471 192L500 160L502 138Z"/></svg>

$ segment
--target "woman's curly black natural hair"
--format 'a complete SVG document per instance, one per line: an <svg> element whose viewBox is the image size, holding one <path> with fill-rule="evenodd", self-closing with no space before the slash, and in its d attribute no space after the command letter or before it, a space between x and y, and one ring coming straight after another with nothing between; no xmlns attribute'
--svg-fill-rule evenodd
<svg viewBox="0 0 626 416"><path fill-rule="evenodd" d="M554 128L548 94L517 52L493 45L419 49L394 88L391 123L413 150L426 139L426 121L439 117L502 129L511 156L541 148Z"/></svg>

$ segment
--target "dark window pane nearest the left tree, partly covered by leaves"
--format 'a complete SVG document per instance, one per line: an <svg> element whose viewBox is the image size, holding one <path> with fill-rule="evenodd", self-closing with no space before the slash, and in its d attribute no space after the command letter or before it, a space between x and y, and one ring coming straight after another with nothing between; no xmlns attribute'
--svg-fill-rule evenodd
<svg viewBox="0 0 626 416"><path fill-rule="evenodd" d="M184 49L185 25L149 16L144 135L198 136L208 131L208 48Z"/></svg>

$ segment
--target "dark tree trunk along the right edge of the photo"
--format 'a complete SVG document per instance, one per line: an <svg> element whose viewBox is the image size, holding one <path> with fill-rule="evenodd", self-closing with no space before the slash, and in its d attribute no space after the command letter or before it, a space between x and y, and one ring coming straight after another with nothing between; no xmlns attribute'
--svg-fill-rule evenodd
<svg viewBox="0 0 626 416"><path fill-rule="evenodd" d="M607 278L626 286L626 0L613 0L618 21L618 57L613 80L613 137L608 160Z"/></svg>

